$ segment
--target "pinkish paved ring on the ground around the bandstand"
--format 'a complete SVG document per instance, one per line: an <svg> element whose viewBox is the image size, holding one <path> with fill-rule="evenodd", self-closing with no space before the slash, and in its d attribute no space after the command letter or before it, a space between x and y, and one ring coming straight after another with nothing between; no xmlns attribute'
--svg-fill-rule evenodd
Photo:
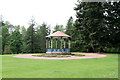
<svg viewBox="0 0 120 80"><path fill-rule="evenodd" d="M97 53L78 53L84 54L85 56L71 56L71 57L36 57L32 56L33 54L26 54L26 55L15 55L15 58L26 58L26 59L89 59L89 58L102 58L107 57L105 54L97 54Z"/></svg>

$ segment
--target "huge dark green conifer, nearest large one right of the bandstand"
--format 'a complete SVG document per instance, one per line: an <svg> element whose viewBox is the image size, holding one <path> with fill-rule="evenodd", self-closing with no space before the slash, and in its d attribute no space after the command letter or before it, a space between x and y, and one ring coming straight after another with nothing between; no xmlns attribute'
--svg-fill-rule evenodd
<svg viewBox="0 0 120 80"><path fill-rule="evenodd" d="M78 1L76 11L75 27L79 31L82 47L88 51L96 52L96 48L102 47L102 37L105 30L103 20L103 7L100 2L80 2Z"/></svg>

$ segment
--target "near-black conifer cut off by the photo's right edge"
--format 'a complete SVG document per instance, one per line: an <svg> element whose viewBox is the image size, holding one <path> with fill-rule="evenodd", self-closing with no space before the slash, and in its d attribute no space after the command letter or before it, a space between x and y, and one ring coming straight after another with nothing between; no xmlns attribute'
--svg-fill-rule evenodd
<svg viewBox="0 0 120 80"><path fill-rule="evenodd" d="M120 1L104 3L104 10L106 12L107 47L117 49L120 46Z"/></svg>

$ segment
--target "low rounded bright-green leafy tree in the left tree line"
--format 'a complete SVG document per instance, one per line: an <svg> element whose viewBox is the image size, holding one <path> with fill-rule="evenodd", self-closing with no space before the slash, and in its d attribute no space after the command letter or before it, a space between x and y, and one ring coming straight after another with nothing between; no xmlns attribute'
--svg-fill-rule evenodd
<svg viewBox="0 0 120 80"><path fill-rule="evenodd" d="M15 30L10 36L10 50L12 53L20 53L22 47L22 35Z"/></svg>

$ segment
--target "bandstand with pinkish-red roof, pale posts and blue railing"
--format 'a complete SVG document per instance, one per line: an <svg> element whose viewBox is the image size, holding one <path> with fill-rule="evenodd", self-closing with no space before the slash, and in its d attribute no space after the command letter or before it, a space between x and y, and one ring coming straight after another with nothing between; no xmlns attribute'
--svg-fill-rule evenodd
<svg viewBox="0 0 120 80"><path fill-rule="evenodd" d="M71 36L61 31L46 36L46 54L71 54L70 40Z"/></svg>

